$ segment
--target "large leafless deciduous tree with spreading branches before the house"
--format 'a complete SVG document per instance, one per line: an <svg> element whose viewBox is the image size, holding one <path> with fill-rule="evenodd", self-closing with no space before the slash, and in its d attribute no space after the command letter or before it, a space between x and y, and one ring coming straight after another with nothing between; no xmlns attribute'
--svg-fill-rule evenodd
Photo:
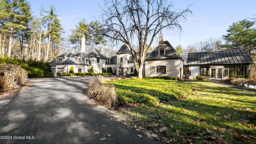
<svg viewBox="0 0 256 144"><path fill-rule="evenodd" d="M172 10L172 3L166 0L106 0L105 6L103 21L97 20L104 28L99 33L129 46L138 78L142 78L143 63L154 38L163 30L182 31L181 22L192 14L189 6ZM138 52L132 47L133 41L138 43Z"/></svg>

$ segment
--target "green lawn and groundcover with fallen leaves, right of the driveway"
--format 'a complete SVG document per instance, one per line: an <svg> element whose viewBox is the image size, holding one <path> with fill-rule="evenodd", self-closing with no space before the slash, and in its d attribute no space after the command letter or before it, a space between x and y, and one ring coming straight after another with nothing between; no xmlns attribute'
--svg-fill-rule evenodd
<svg viewBox="0 0 256 144"><path fill-rule="evenodd" d="M135 93L160 99L157 105L119 108L119 115L126 118L129 126L150 138L167 143L256 143L256 92L209 81L132 79L109 83L115 84L120 99L131 98ZM194 91L190 92L191 88ZM179 98L188 92L185 99ZM166 96L178 99L167 101Z"/></svg>

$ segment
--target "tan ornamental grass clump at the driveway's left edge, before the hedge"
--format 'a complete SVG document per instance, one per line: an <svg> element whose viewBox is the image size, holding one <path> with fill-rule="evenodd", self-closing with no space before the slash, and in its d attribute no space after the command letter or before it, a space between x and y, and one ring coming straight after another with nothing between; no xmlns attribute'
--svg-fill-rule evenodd
<svg viewBox="0 0 256 144"><path fill-rule="evenodd" d="M0 89L3 91L19 88L28 78L26 70L13 64L0 65Z"/></svg>

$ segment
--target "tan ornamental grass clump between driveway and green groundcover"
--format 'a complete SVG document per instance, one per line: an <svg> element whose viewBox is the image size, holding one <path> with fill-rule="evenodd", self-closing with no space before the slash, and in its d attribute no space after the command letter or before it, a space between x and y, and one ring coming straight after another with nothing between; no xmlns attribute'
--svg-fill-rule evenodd
<svg viewBox="0 0 256 144"><path fill-rule="evenodd" d="M114 79L103 77L92 79L87 88L88 97L94 98L106 106L115 106L118 104L114 84L103 84L109 80Z"/></svg>

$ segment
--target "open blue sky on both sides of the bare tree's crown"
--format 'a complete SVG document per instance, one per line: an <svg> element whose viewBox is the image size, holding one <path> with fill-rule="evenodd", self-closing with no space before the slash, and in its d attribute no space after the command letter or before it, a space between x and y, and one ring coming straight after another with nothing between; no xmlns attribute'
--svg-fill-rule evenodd
<svg viewBox="0 0 256 144"><path fill-rule="evenodd" d="M33 15L38 15L41 3L46 9L54 5L59 15L65 34L70 34L70 29L85 18L88 22L94 20L92 16L100 15L100 6L104 0L29 0ZM163 32L164 40L172 46L180 44L186 48L207 38L221 38L227 34L226 29L233 22L253 17L256 14L256 0L172 0L174 9L184 9L192 4L190 9L193 16L189 16L183 24L183 32ZM92 16L91 16L92 15ZM153 45L157 45L154 42Z"/></svg>

